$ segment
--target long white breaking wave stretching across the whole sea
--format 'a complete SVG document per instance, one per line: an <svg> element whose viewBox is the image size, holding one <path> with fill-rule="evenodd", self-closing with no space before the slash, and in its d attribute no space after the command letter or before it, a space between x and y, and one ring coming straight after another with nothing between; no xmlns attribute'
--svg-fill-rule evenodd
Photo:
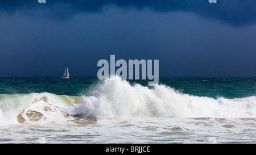
<svg viewBox="0 0 256 155"><path fill-rule="evenodd" d="M255 118L256 97L209 98L154 88L119 77L106 79L90 89L92 95L73 97L51 93L0 94L0 125L68 123L76 117L130 118Z"/></svg>

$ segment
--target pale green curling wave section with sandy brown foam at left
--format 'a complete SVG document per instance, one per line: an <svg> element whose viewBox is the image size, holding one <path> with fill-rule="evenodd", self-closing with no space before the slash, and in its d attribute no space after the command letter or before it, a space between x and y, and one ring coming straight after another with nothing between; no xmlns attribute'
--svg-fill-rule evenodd
<svg viewBox="0 0 256 155"><path fill-rule="evenodd" d="M61 110L79 102L77 97L51 93L1 94L0 98L2 125L67 123L69 119Z"/></svg>

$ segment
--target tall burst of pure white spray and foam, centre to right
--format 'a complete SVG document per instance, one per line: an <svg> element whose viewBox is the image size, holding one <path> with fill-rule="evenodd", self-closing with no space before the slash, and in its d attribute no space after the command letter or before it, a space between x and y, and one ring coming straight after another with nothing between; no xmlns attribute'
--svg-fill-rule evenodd
<svg viewBox="0 0 256 155"><path fill-rule="evenodd" d="M152 89L119 77L106 79L94 95L82 96L72 114L97 119L114 118L251 118L256 116L256 97L217 99L196 97L165 85Z"/></svg>

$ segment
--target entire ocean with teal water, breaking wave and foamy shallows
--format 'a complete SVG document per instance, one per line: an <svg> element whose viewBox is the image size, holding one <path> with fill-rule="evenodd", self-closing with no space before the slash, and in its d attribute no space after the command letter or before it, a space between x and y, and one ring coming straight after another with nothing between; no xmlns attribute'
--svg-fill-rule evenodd
<svg viewBox="0 0 256 155"><path fill-rule="evenodd" d="M0 78L0 143L256 143L256 78Z"/></svg>

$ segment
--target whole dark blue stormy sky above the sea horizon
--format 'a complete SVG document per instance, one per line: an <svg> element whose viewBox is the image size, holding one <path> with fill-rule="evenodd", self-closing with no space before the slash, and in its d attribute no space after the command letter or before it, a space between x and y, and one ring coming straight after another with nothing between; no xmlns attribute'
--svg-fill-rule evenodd
<svg viewBox="0 0 256 155"><path fill-rule="evenodd" d="M0 0L0 77L97 76L159 60L159 76L256 76L255 0Z"/></svg>

